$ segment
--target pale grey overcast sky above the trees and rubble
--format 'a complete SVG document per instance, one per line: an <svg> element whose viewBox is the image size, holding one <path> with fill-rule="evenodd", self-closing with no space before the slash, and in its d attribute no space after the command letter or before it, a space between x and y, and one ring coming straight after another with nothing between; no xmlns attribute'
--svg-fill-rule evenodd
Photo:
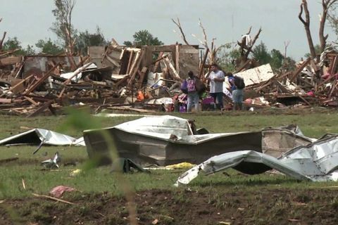
<svg viewBox="0 0 338 225"><path fill-rule="evenodd" d="M252 26L251 36L259 27L258 41L268 49L284 52L284 41L290 41L289 56L296 60L308 52L306 34L298 19L300 0L77 0L73 25L77 30L94 32L99 26L106 39L115 38L119 44L132 41L132 34L149 30L165 44L182 43L171 18L180 18L190 44L199 44L191 34L202 39L199 18L206 28L209 41L216 44L237 41ZM53 0L0 0L0 36L18 37L23 46L35 45L38 39L56 39L49 27L54 22ZM308 0L314 44L318 44L319 0ZM329 40L334 34L327 25Z"/></svg>

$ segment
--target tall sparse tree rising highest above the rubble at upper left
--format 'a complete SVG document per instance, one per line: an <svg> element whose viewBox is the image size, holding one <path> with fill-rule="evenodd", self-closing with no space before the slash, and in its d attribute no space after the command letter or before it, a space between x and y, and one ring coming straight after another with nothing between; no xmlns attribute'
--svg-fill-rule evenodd
<svg viewBox="0 0 338 225"><path fill-rule="evenodd" d="M51 30L56 33L58 38L63 40L63 44L70 55L74 53L75 32L72 25L72 13L76 0L55 0L56 9L51 11L56 18Z"/></svg>

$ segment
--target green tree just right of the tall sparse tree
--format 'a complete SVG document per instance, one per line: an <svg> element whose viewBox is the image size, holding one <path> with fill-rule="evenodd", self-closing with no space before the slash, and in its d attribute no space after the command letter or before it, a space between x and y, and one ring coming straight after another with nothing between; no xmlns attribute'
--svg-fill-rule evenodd
<svg viewBox="0 0 338 225"><path fill-rule="evenodd" d="M106 44L108 44L108 41L104 39L100 27L96 27L96 32L93 34L89 33L88 30L79 33L75 49L82 55L86 55L88 46L105 46Z"/></svg>

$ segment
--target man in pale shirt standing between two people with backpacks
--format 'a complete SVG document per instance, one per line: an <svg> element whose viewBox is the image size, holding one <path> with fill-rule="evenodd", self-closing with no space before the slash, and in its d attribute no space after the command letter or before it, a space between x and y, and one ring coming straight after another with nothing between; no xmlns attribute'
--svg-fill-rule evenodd
<svg viewBox="0 0 338 225"><path fill-rule="evenodd" d="M211 65L211 73L208 77L210 80L210 95L215 100L217 108L223 109L223 82L225 81L225 75L217 64Z"/></svg>

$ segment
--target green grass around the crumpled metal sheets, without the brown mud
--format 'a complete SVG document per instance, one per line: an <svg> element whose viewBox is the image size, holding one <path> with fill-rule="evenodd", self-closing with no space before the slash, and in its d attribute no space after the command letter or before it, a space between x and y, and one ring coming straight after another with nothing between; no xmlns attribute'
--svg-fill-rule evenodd
<svg viewBox="0 0 338 225"><path fill-rule="evenodd" d="M303 134L319 138L326 133L338 133L338 117L334 110L290 111L287 114L279 110L269 110L259 114L253 113L201 113L173 114L176 116L196 120L197 127L205 127L211 132L253 131L263 127L279 127L287 124L299 124ZM134 120L135 117L91 117L88 115L72 115L70 117L0 117L0 139L19 134L29 128L44 128L59 131L74 137L82 136L82 129L111 127L121 122ZM13 162L0 165L0 200L4 198L23 198L31 193L48 193L58 185L72 186L84 193L101 193L109 191L113 195L120 195L121 186L116 174L111 173L109 167L86 170L84 174L70 176L73 169L81 169L87 160L85 147L75 146L43 146L35 155L32 152L36 146L1 146L0 160L18 157ZM58 171L42 171L40 162L53 157L58 151L61 154L61 168ZM75 166L64 166L72 162ZM173 187L177 176L183 171L153 171L151 174L134 173L123 174L134 191L149 189L180 190ZM214 191L223 188L230 190L251 190L259 188L320 188L334 186L331 183L299 182L283 175L259 174L246 176L230 169L230 176L222 172L211 176L199 176L189 184L189 188L196 190ZM23 189L22 179L25 180L26 190ZM186 188L186 187L182 187ZM178 201L184 200L177 197Z"/></svg>

